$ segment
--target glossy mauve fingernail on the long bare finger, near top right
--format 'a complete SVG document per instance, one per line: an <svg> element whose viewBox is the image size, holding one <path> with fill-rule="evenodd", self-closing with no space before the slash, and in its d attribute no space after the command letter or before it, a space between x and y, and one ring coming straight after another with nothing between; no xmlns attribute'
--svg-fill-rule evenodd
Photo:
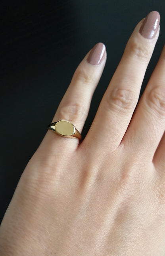
<svg viewBox="0 0 165 256"><path fill-rule="evenodd" d="M140 28L140 31L139 31L140 34L145 38L152 39L155 36L157 29L159 28L159 22L160 22L159 12L156 12L156 11L150 12L146 16Z"/></svg>

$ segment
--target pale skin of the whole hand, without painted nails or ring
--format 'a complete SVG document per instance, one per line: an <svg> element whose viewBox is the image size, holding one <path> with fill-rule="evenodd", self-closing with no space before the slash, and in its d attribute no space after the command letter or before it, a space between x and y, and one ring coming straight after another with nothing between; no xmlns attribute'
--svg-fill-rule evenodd
<svg viewBox="0 0 165 256"><path fill-rule="evenodd" d="M142 37L142 22L82 142L48 130L27 164L1 224L0 255L165 255L165 47L138 102L159 36ZM52 120L79 132L106 63L104 53L89 64L89 54Z"/></svg>

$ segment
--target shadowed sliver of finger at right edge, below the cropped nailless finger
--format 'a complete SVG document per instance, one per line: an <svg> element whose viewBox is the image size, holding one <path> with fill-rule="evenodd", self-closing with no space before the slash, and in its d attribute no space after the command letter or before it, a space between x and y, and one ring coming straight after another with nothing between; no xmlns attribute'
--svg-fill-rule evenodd
<svg viewBox="0 0 165 256"><path fill-rule="evenodd" d="M165 132L153 156L153 164L157 170L160 170L165 176Z"/></svg>

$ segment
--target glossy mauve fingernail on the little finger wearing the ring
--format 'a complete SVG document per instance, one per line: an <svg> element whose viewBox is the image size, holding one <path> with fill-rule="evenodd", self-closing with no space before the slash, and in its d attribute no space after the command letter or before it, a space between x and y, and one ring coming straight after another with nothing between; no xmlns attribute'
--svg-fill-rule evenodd
<svg viewBox="0 0 165 256"><path fill-rule="evenodd" d="M99 65L102 62L106 47L103 43L97 43L92 48L87 61L92 65Z"/></svg>

